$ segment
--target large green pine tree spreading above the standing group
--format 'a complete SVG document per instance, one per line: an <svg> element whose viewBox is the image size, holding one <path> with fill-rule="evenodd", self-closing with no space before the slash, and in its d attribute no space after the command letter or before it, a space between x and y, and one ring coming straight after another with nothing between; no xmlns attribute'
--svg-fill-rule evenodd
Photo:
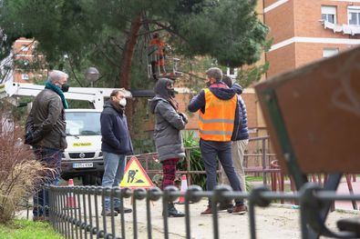
<svg viewBox="0 0 360 239"><path fill-rule="evenodd" d="M220 65L256 62L268 28L249 0L2 0L1 56L19 36L34 37L49 65L64 55L77 68L84 59L108 74L112 86L131 88L131 69L154 31L169 33L180 55L210 55ZM134 58L135 57L135 58ZM111 72L111 74L109 74Z"/></svg>

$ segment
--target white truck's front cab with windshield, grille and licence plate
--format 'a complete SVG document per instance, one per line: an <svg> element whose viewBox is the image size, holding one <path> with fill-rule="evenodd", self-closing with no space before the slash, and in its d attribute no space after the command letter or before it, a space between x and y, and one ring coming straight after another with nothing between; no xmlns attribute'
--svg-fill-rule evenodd
<svg viewBox="0 0 360 239"><path fill-rule="evenodd" d="M62 154L61 170L65 180L81 177L83 184L101 183L104 161L98 109L67 109L67 149Z"/></svg>

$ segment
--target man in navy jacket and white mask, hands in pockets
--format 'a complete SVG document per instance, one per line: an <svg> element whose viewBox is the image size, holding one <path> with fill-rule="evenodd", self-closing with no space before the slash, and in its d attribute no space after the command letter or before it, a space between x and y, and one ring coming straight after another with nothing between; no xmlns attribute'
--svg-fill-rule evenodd
<svg viewBox="0 0 360 239"><path fill-rule="evenodd" d="M104 155L105 171L102 178L102 186L119 186L124 177L126 155L133 154L131 138L128 129L125 105L127 104L124 93L114 90L108 102L104 104L104 110L100 116L102 144L101 150ZM120 213L120 199L114 198L114 209L110 209L110 198L105 198L103 215L118 215ZM124 213L131 213L130 208L124 207Z"/></svg>

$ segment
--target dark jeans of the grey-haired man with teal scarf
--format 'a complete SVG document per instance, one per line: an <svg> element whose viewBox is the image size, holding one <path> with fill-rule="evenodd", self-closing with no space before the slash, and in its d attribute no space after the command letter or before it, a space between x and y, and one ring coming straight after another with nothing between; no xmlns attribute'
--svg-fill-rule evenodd
<svg viewBox="0 0 360 239"><path fill-rule="evenodd" d="M33 215L34 216L48 216L48 209L45 207L49 204L48 191L44 189L45 184L57 185L60 181L61 173L61 151L53 148L46 147L34 147L34 154L36 159L46 164L46 167L51 170L46 170L44 173L43 180L37 184L37 192L33 196Z"/></svg>

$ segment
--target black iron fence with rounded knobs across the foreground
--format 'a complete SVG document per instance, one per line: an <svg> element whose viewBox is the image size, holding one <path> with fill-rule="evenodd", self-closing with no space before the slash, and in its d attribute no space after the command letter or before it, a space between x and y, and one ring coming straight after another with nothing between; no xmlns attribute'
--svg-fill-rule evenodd
<svg viewBox="0 0 360 239"><path fill-rule="evenodd" d="M247 199L248 214L250 224L251 238L257 238L256 235L256 207L267 207L273 200L285 199L294 200L300 204L300 224L302 238L318 238L319 235L337 238L358 238L360 236L359 224L355 221L340 221L339 227L343 231L333 232L329 230L322 220L318 220L322 214L324 202L333 202L334 200L360 200L360 194L338 195L333 191L324 191L318 184L304 184L300 192L294 194L274 193L267 187L260 186L252 190L250 194L233 192L228 186L218 186L213 192L202 191L198 185L191 185L186 192L180 193L177 187L169 186L163 192L159 188L149 190L129 188L102 188L95 186L48 186L49 190L49 221L57 232L63 234L66 238L159 238L153 234L152 211L155 210L153 202L160 201L162 204L163 230L161 237L170 238L170 222L167 215L168 203L176 201L180 196L184 197L185 208L185 234L186 238L191 237L192 228L190 226L191 204L196 204L201 199L211 199L212 211L212 234L215 239L226 238L223 234L220 236L218 204L228 204L232 199ZM119 216L103 216L102 204L105 197L111 199L118 197L121 199ZM125 219L124 199L131 198L132 214L127 215ZM112 202L113 200L111 200ZM129 201L129 199L128 199ZM145 201L145 211L138 209L138 204ZM111 204L112 211L114 204ZM157 209L159 210L159 208ZM129 216L131 220L129 220ZM142 228L139 234L138 217L146 217L146 230ZM199 215L200 216L200 215ZM192 217L193 218L193 217ZM179 223L179 221L178 221ZM146 232L146 233L144 233ZM224 232L222 232L224 233ZM225 232L226 233L226 232ZM146 234L146 235L144 235ZM241 236L239 236L241 237Z"/></svg>

